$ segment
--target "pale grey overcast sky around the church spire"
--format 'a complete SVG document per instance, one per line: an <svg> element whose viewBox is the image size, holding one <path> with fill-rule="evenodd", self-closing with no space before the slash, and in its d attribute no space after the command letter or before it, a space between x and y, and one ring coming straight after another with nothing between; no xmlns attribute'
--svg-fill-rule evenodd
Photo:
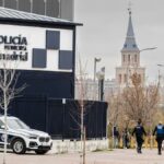
<svg viewBox="0 0 164 164"><path fill-rule="evenodd" d="M132 24L141 66L147 68L149 81L157 79L159 69L164 75L164 0L131 0ZM94 57L101 57L97 70L106 68L106 79L115 78L115 68L120 66L127 26L128 0L74 0L74 20L83 23L77 31L77 55L86 63L86 72L93 77Z"/></svg>

